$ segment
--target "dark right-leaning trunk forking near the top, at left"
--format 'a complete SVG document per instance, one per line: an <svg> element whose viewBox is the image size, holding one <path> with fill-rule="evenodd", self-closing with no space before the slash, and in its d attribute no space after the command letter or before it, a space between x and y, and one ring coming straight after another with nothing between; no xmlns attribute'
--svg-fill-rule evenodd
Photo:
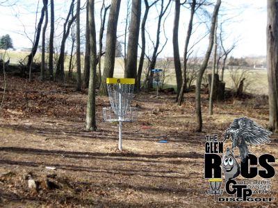
<svg viewBox="0 0 278 208"><path fill-rule="evenodd" d="M64 75L65 75L65 71L64 71L65 42L67 40L67 37L70 34L70 28L76 19L76 15L73 15L74 1L75 0L72 0L72 3L70 3L70 10L67 13L67 18L65 19L65 23L63 25L63 37L62 37L62 41L61 41L60 55L59 55L59 59L58 59L57 69L56 69L56 78L58 78L60 80L63 80ZM70 19L70 17L71 17L71 19Z"/></svg>

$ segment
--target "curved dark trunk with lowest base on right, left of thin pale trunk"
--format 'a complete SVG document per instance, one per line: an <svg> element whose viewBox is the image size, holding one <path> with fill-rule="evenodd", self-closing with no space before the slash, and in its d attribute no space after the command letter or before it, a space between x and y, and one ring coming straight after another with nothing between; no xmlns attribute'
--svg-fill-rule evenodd
<svg viewBox="0 0 278 208"><path fill-rule="evenodd" d="M199 70L198 76L197 76L197 82L196 82L196 91L195 91L195 105L196 105L196 130L197 132L202 132L202 107L201 107L201 84L202 84L202 77L204 75L204 71L206 70L206 67L208 65L209 57L211 56L211 51L213 49L213 40L214 40L214 31L215 31L215 24L216 19L218 16L218 10L220 8L221 0L218 0L215 4L214 10L213 10L213 16L211 18L211 32L209 35L209 43L208 43L208 49L206 50L206 55L204 57L204 60L202 62L202 66Z"/></svg>

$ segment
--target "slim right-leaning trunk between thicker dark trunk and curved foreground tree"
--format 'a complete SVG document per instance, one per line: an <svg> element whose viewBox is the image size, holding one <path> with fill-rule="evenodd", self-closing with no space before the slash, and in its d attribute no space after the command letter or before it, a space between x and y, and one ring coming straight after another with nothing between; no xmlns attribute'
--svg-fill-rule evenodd
<svg viewBox="0 0 278 208"><path fill-rule="evenodd" d="M196 7L196 0L193 0L191 3L191 12L190 12L190 19L188 23L187 33L186 33L186 43L184 45L184 52L183 52L183 80L181 85L181 90L179 91L179 97L178 97L178 105L181 105L181 102L183 101L183 92L186 89L186 71L187 71L187 62L188 62L188 45L192 33L193 28L193 17L195 14L195 7Z"/></svg>

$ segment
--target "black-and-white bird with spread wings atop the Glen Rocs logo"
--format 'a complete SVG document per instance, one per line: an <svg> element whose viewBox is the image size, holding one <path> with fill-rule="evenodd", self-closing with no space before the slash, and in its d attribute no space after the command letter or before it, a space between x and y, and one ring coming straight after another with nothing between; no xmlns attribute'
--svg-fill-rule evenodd
<svg viewBox="0 0 278 208"><path fill-rule="evenodd" d="M242 162L245 162L249 154L248 146L270 143L269 136L271 134L270 131L265 130L261 125L255 123L251 119L242 117L234 119L233 123L225 130L222 137L224 137L223 141L231 137L233 141L231 150L238 147L240 151L239 158Z"/></svg>

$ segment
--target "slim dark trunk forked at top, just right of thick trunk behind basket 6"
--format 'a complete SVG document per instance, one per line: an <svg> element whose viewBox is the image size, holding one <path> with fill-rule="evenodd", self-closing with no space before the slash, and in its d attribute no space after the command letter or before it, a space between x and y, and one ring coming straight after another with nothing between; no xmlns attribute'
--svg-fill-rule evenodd
<svg viewBox="0 0 278 208"><path fill-rule="evenodd" d="M145 60L145 50L146 50L146 37L145 37L145 26L146 26L146 21L147 21L147 16L149 15L149 9L154 6L154 4L158 0L154 1L149 5L149 2L147 0L144 0L145 2L145 13L142 19L142 24L141 24L141 54L140 54L140 60L139 60L139 65L138 65L138 72L137 72L137 79L136 79L136 89L137 91L140 91L141 88L141 75L142 75L142 69L144 65L144 60Z"/></svg>

